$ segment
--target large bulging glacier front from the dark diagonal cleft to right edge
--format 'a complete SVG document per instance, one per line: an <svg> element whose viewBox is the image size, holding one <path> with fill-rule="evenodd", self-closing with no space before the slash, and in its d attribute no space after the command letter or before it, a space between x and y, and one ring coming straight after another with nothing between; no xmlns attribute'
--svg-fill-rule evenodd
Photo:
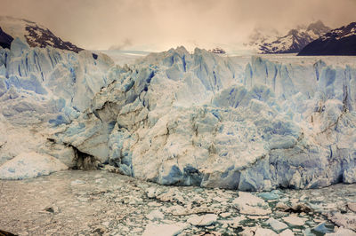
<svg viewBox="0 0 356 236"><path fill-rule="evenodd" d="M181 47L109 75L53 138L125 175L252 191L355 181L354 66Z"/></svg>

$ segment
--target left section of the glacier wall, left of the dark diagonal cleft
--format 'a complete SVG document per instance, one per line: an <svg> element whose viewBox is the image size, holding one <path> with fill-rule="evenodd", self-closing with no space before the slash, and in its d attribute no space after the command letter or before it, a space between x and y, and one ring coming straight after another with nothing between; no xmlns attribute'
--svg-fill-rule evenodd
<svg viewBox="0 0 356 236"><path fill-rule="evenodd" d="M0 49L0 164L35 151L73 166L69 146L60 148L47 138L90 106L94 94L110 83L113 65L104 54L93 59L90 51L31 48L20 38L11 50Z"/></svg>

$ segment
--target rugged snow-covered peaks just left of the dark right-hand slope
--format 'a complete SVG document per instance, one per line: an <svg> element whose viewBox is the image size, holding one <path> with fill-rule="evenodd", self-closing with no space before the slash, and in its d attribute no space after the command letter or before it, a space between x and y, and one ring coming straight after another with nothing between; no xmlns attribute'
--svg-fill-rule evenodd
<svg viewBox="0 0 356 236"><path fill-rule="evenodd" d="M299 26L291 29L284 36L270 36L263 41L257 41L255 46L259 53L297 53L313 40L325 35L330 28L326 27L320 20L310 24L308 27ZM263 38L260 36L259 38Z"/></svg>

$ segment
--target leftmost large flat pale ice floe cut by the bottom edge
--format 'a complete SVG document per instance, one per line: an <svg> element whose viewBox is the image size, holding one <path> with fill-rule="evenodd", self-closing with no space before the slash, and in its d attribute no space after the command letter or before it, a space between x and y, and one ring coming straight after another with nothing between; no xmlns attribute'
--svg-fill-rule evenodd
<svg viewBox="0 0 356 236"><path fill-rule="evenodd" d="M176 224L149 224L146 226L142 236L174 236L181 233L188 224L176 223Z"/></svg>

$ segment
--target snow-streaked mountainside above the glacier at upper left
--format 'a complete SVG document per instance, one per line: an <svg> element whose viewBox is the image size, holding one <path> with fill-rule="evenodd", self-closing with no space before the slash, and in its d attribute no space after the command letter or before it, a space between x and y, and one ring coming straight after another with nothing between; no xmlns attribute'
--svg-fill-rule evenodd
<svg viewBox="0 0 356 236"><path fill-rule="evenodd" d="M82 51L82 48L77 47L73 43L65 42L60 37L53 34L51 30L41 26L33 21L17 19L12 17L0 17L0 42L2 42L3 35L10 35L13 38L19 37L22 40L26 40L30 47L45 48L46 46L52 46L68 51ZM10 38L7 37L7 43L1 46L8 47Z"/></svg>

